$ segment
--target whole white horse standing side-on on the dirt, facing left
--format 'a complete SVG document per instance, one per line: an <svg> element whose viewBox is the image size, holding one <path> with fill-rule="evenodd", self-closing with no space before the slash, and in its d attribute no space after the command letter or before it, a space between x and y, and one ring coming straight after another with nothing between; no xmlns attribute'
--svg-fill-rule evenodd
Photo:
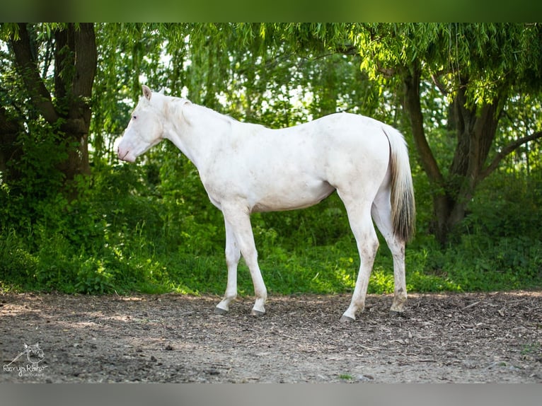
<svg viewBox="0 0 542 406"><path fill-rule="evenodd" d="M379 247L371 216L393 255L391 312L403 312L405 242L414 233L415 204L407 147L396 129L349 113L268 129L143 86L118 145L118 157L134 162L163 139L172 141L194 163L209 199L224 214L228 282L217 313L226 313L237 296L241 255L254 284L251 314L265 313L267 289L258 267L250 214L309 207L335 190L345 204L361 260L352 301L341 320L354 320L364 308Z"/></svg>

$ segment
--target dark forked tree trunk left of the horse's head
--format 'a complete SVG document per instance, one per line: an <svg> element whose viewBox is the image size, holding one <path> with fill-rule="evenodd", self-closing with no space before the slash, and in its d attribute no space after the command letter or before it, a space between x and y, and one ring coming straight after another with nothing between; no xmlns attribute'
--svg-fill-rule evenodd
<svg viewBox="0 0 542 406"><path fill-rule="evenodd" d="M69 184L76 175L90 173L88 131L97 63L94 26L70 23L55 31L54 98L38 71L37 53L25 23L18 25L18 39L12 37L10 43L31 103L47 122L59 129L59 139L67 149L67 159L59 170Z"/></svg>

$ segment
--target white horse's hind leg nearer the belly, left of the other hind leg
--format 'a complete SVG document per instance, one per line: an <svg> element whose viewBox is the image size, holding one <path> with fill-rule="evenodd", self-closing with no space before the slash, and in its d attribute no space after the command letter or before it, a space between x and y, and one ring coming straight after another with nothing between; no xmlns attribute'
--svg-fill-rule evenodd
<svg viewBox="0 0 542 406"><path fill-rule="evenodd" d="M342 202L345 203L350 227L356 238L360 260L352 301L347 311L340 318L341 321L353 321L356 318L357 311L361 311L365 307L367 286L369 286L374 257L379 248L379 239L376 237L376 231L374 231L371 221L371 203L367 201L357 202L357 199L341 196L340 192L339 195Z"/></svg>

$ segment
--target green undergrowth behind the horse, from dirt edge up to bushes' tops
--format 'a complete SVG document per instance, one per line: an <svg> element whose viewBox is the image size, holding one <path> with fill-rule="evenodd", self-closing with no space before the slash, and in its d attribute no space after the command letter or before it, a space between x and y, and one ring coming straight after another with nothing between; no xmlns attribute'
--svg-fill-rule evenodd
<svg viewBox="0 0 542 406"><path fill-rule="evenodd" d="M16 199L1 190L2 291L224 293L224 222L193 169L105 168L79 187L80 199L71 202L54 194ZM502 187L488 187L480 202L492 203L475 202L459 237L445 248L426 232L427 224L418 225L406 250L408 291L542 287L540 220L525 214L540 197L524 193L518 204L504 196L497 205L495 191ZM424 221L428 209L419 196ZM302 211L257 214L253 229L270 294L353 291L359 257L336 195ZM253 295L243 260L238 291ZM393 260L381 241L369 293L391 292Z"/></svg>

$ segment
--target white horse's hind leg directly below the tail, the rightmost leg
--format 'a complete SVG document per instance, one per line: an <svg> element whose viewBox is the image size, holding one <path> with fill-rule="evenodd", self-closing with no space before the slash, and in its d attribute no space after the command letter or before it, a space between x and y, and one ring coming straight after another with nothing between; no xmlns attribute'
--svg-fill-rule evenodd
<svg viewBox="0 0 542 406"><path fill-rule="evenodd" d="M374 199L371 215L379 228L382 236L386 239L386 244L393 256L393 282L394 294L393 303L390 308L392 314L403 313L407 300L406 281L405 281L405 242L397 238L393 233L393 224L391 221L391 203L388 190L381 190Z"/></svg>

